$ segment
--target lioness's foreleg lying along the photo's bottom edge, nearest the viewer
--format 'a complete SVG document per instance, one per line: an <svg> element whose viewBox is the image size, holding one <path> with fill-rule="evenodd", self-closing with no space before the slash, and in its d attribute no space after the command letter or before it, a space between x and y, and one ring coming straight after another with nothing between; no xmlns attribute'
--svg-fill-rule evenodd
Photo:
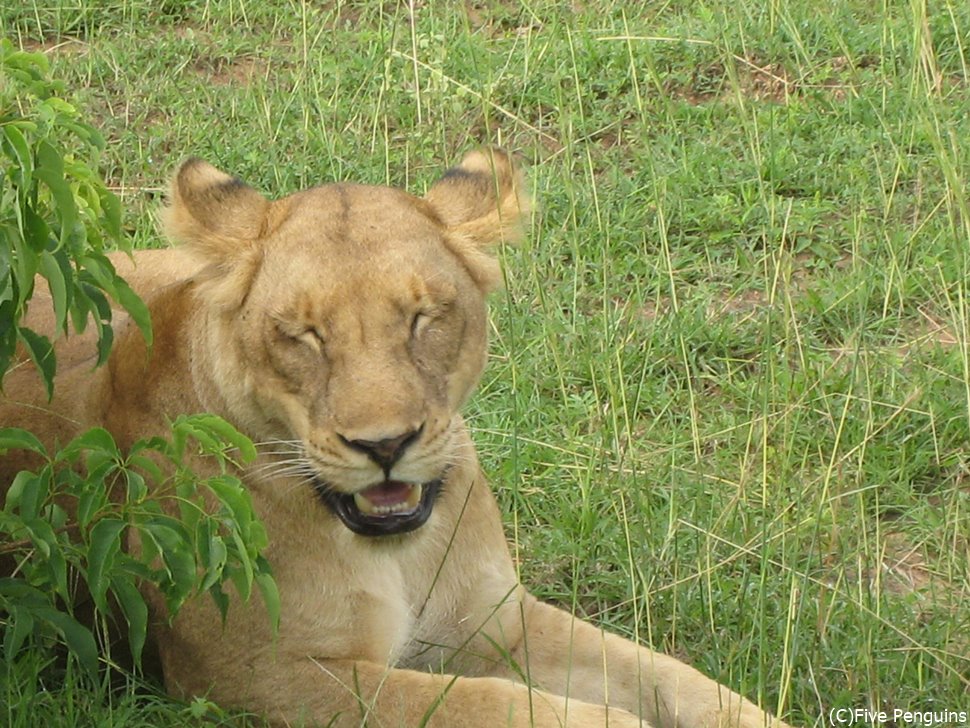
<svg viewBox="0 0 970 728"><path fill-rule="evenodd" d="M279 726L642 728L625 711L567 702L497 677L456 677L362 660L267 656L261 662L251 663L245 678L222 680L204 692L221 705L263 713Z"/></svg>

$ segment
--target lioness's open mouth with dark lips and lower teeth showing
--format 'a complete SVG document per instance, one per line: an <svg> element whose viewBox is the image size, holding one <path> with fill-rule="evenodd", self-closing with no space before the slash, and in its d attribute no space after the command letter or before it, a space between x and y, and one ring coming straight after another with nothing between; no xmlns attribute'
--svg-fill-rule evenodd
<svg viewBox="0 0 970 728"><path fill-rule="evenodd" d="M424 525L431 516L441 480L385 480L352 495L338 493L320 481L314 487L324 504L354 533L393 536Z"/></svg>

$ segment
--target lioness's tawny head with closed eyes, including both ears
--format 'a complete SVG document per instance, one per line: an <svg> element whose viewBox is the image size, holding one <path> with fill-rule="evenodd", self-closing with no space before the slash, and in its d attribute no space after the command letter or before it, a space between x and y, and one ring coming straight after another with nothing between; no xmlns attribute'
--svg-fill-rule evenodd
<svg viewBox="0 0 970 728"><path fill-rule="evenodd" d="M199 160L173 182L168 228L204 263L206 406L295 451L356 533L411 531L433 512L485 363L488 248L517 229L519 187L494 152L424 199L340 184L270 202Z"/></svg>

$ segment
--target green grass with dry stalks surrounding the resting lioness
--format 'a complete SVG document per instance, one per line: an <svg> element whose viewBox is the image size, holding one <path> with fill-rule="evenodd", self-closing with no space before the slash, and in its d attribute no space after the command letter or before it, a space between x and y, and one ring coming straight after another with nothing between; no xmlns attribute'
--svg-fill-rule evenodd
<svg viewBox="0 0 970 728"><path fill-rule="evenodd" d="M468 414L524 581L822 725L970 707L970 5L824 6L28 0L0 32L104 131L139 245L189 154L283 194L519 151L539 211ZM67 686L40 702L134 712L45 723L186 715Z"/></svg>

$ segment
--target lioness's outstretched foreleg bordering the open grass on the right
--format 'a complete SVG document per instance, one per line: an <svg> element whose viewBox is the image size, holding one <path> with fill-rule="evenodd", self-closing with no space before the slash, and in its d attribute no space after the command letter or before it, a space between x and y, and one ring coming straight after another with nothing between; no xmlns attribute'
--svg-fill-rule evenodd
<svg viewBox="0 0 970 728"><path fill-rule="evenodd" d="M531 684L622 708L658 728L787 728L679 660L640 647L528 595L510 664ZM512 676L512 672L508 673Z"/></svg>

